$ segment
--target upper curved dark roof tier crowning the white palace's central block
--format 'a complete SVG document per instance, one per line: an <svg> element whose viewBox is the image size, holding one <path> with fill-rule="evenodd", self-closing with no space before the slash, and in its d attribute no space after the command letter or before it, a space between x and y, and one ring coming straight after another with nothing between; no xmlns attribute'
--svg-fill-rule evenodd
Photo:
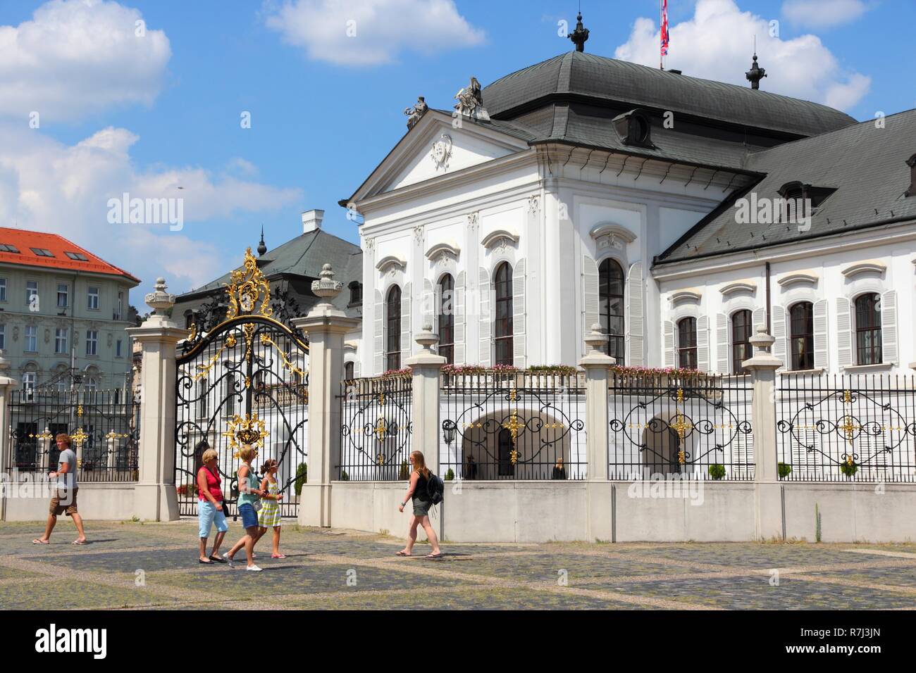
<svg viewBox="0 0 916 673"><path fill-rule="evenodd" d="M796 136L813 136L856 123L848 114L819 103L579 51L496 80L485 87L483 97L490 116L501 119L551 100L580 98L671 110Z"/></svg>

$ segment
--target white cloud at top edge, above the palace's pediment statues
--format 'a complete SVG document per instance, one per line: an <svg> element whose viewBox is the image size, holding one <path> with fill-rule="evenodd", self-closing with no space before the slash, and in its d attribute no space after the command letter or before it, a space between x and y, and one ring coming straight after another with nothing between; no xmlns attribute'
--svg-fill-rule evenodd
<svg viewBox="0 0 916 673"><path fill-rule="evenodd" d="M267 26L284 41L310 59L341 65L377 65L401 50L431 54L484 40L453 0L288 0L268 11Z"/></svg>

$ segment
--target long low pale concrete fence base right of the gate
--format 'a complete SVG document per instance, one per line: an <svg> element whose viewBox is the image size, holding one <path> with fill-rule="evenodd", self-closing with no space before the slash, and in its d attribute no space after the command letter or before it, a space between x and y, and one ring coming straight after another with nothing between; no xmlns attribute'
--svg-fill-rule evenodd
<svg viewBox="0 0 916 673"><path fill-rule="evenodd" d="M916 484L680 482L447 483L437 533L452 542L814 542L916 540ZM457 492L456 492L457 491ZM335 482L332 525L407 535L405 483ZM758 532L760 509L771 535ZM422 533L420 533L420 537Z"/></svg>

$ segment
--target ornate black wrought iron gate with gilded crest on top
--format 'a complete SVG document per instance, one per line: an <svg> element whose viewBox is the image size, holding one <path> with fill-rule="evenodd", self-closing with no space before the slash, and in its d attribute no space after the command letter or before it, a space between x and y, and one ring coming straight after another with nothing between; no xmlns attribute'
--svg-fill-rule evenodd
<svg viewBox="0 0 916 673"><path fill-rule="evenodd" d="M254 467L279 463L282 516L297 516L306 475L309 346L296 328L277 320L270 285L250 248L226 289L224 320L183 342L176 376L175 483L182 516L197 514L196 475L207 449L218 454L227 516L237 516L244 444L257 450ZM279 311L278 311L279 312ZM285 311L282 311L285 313Z"/></svg>

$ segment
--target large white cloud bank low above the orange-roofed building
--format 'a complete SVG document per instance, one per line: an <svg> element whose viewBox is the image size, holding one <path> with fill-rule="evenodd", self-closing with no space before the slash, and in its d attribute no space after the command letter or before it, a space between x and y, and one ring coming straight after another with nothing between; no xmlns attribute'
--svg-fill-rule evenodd
<svg viewBox="0 0 916 673"><path fill-rule="evenodd" d="M139 170L130 156L138 140L124 128L109 127L66 146L0 123L0 226L60 233L141 278L141 288L165 276L170 288L181 291L213 280L236 261L224 259L211 243L221 232L208 221L301 200L300 190L214 177L202 168ZM183 199L183 230L108 223L108 200L124 192Z"/></svg>

